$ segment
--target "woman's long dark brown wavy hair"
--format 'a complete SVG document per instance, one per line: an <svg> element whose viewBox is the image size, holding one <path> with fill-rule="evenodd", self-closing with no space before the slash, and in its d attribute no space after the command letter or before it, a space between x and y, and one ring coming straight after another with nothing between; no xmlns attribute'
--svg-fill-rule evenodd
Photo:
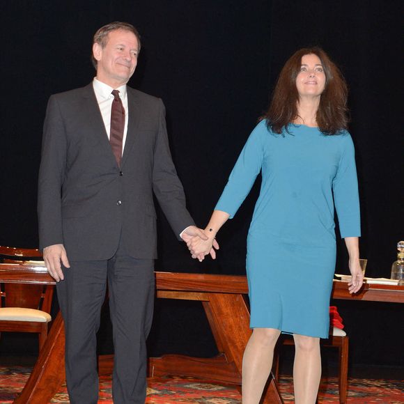
<svg viewBox="0 0 404 404"><path fill-rule="evenodd" d="M307 54L318 56L325 72L325 88L316 114L318 127L324 134L339 134L348 126L348 88L339 68L320 47L303 48L290 57L281 70L270 107L261 119L267 121L268 129L274 133L281 134L283 129L288 132L290 123L298 117L296 77L302 57Z"/></svg>

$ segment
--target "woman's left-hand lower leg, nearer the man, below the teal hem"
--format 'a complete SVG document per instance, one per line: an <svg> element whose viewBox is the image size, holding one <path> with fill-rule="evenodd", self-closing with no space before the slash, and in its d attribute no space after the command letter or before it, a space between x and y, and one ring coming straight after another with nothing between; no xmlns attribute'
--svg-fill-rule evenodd
<svg viewBox="0 0 404 404"><path fill-rule="evenodd" d="M260 402L280 334L279 329L254 328L242 359L242 404Z"/></svg>

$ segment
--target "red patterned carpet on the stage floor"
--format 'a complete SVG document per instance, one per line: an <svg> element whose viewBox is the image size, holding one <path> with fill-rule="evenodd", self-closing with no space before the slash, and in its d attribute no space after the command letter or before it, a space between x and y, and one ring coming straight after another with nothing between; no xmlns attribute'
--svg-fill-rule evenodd
<svg viewBox="0 0 404 404"><path fill-rule="evenodd" d="M13 403L29 377L31 368L22 366L0 366L0 403ZM279 388L285 403L293 403L293 384L289 376L281 377ZM234 386L192 378L155 378L149 380L146 403L153 404L235 404L241 401L240 393ZM65 386L51 403L68 403ZM338 403L338 381L336 378L323 379L320 386L319 403ZM111 378L100 378L100 403L112 403ZM385 403L404 404L404 380L350 379L348 404Z"/></svg>

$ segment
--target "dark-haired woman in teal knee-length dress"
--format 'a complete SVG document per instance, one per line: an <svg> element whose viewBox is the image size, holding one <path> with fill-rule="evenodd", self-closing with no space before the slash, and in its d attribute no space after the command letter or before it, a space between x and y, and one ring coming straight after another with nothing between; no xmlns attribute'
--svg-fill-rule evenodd
<svg viewBox="0 0 404 404"><path fill-rule="evenodd" d="M256 404L279 334L293 334L295 403L316 402L320 338L329 333L336 242L334 207L349 254L350 293L362 287L355 152L346 130L347 88L322 49L300 49L283 67L270 107L236 162L205 229L187 244L201 261L262 173L247 238L251 338L242 402Z"/></svg>

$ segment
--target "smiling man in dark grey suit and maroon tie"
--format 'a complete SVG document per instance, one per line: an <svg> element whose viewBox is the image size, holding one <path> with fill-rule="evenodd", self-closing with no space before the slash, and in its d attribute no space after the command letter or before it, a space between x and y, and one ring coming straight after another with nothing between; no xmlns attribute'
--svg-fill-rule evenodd
<svg viewBox="0 0 404 404"><path fill-rule="evenodd" d="M132 25L103 26L93 41L93 82L52 95L47 107L38 191L40 248L58 282L71 403L98 401L95 334L107 283L114 403L145 401L157 256L153 192L178 238L206 239L185 208L162 100L126 86L139 50Z"/></svg>

